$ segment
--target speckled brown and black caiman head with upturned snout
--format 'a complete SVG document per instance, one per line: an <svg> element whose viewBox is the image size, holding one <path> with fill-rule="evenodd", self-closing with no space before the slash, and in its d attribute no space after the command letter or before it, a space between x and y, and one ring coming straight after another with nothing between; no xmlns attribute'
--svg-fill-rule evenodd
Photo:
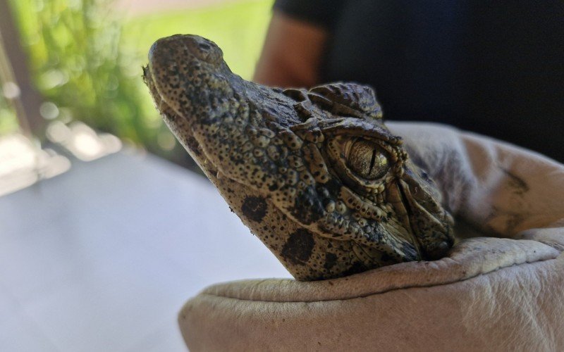
<svg viewBox="0 0 564 352"><path fill-rule="evenodd" d="M434 182L369 87L247 82L194 35L159 39L144 76L168 127L296 279L433 260L452 246Z"/></svg>

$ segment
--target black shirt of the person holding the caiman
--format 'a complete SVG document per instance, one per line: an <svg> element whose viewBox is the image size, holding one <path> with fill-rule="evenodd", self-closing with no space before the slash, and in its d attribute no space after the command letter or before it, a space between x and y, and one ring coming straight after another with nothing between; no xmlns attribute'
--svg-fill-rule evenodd
<svg viewBox="0 0 564 352"><path fill-rule="evenodd" d="M369 84L388 120L443 122L564 162L564 2L277 0L325 27L321 82Z"/></svg>

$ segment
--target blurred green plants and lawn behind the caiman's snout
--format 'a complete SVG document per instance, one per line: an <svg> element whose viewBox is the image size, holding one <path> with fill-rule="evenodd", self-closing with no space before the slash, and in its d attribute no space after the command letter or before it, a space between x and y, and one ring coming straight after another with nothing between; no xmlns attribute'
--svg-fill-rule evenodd
<svg viewBox="0 0 564 352"><path fill-rule="evenodd" d="M151 151L171 149L171 134L141 80L159 37L200 34L217 42L235 73L250 78L272 0L168 11L123 22L111 0L11 0L39 92L61 120L82 120Z"/></svg>

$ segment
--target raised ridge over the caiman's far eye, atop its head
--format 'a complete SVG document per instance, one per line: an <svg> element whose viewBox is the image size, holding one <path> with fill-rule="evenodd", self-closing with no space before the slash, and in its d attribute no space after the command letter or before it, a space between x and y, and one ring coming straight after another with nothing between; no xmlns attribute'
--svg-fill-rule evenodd
<svg viewBox="0 0 564 352"><path fill-rule="evenodd" d="M309 89L312 103L336 115L357 118L382 118L382 109L374 90L356 83L329 83Z"/></svg>

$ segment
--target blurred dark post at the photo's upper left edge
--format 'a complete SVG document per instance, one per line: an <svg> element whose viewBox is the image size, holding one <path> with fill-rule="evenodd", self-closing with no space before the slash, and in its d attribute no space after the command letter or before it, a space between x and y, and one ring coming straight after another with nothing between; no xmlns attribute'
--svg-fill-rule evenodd
<svg viewBox="0 0 564 352"><path fill-rule="evenodd" d="M0 83L4 86L11 82L8 84L19 88L20 94L8 100L13 104L20 127L25 134L42 139L45 120L39 108L43 99L32 86L27 62L8 0L0 0Z"/></svg>

